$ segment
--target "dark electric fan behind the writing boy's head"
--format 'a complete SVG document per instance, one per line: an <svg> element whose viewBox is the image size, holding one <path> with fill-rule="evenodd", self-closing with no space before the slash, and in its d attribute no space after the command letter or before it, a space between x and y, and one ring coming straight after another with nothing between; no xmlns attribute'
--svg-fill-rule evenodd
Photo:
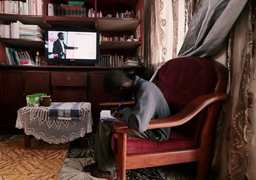
<svg viewBox="0 0 256 180"><path fill-rule="evenodd" d="M149 81L154 74L154 69L152 64L148 59L142 56L128 57L124 62L123 67L134 67L131 71L126 73L130 79L135 76L139 76L142 79Z"/></svg>

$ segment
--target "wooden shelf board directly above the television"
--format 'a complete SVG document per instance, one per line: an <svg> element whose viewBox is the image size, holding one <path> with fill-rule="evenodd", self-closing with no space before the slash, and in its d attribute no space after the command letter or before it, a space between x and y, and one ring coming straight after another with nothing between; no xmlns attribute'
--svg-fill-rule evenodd
<svg viewBox="0 0 256 180"><path fill-rule="evenodd" d="M69 27L88 26L95 28L95 18L88 17L66 17L66 16L46 16L46 21L50 22L52 27Z"/></svg>

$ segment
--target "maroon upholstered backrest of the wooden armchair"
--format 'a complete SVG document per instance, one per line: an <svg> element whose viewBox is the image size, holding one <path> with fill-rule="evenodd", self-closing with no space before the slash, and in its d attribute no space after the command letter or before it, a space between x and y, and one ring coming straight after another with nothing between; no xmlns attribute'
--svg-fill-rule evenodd
<svg viewBox="0 0 256 180"><path fill-rule="evenodd" d="M180 57L169 60L159 69L157 86L164 94L173 115L196 97L215 92L216 79L211 60ZM173 127L172 130L198 139L205 112L206 108L187 123Z"/></svg>

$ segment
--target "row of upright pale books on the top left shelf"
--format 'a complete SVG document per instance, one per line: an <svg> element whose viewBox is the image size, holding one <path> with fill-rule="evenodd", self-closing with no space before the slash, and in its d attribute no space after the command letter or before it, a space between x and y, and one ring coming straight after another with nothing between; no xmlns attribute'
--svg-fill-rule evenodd
<svg viewBox="0 0 256 180"><path fill-rule="evenodd" d="M44 14L44 0L0 1L1 14L40 15Z"/></svg>

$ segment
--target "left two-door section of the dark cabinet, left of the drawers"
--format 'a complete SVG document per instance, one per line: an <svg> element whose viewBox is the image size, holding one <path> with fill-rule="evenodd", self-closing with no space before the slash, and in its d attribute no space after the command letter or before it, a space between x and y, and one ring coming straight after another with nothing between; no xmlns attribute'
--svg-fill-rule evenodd
<svg viewBox="0 0 256 180"><path fill-rule="evenodd" d="M1 70L0 133L14 133L17 110L27 105L26 95L50 93L50 72Z"/></svg>

